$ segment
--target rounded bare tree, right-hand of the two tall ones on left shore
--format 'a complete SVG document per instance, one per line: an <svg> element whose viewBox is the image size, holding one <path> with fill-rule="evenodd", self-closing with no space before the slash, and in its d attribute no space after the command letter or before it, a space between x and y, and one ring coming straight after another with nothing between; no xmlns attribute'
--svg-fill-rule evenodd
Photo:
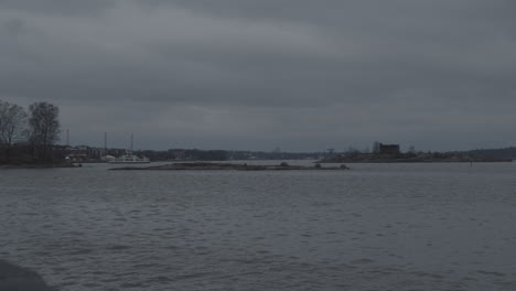
<svg viewBox="0 0 516 291"><path fill-rule="evenodd" d="M60 108L49 103L35 103L29 107L30 141L40 158L50 160L52 146L60 140Z"/></svg>

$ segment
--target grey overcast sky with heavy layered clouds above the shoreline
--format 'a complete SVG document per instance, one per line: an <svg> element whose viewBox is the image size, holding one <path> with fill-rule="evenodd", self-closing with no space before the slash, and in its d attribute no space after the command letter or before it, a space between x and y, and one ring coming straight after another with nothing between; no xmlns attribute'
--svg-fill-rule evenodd
<svg viewBox="0 0 516 291"><path fill-rule="evenodd" d="M516 146L514 0L0 0L0 99L73 144Z"/></svg>

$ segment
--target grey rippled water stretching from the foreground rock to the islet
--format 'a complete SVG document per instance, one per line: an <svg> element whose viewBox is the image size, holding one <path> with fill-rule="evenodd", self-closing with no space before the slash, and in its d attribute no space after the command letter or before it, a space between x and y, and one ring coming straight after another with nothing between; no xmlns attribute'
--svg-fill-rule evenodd
<svg viewBox="0 0 516 291"><path fill-rule="evenodd" d="M516 290L516 163L351 166L0 170L0 259L61 291Z"/></svg>

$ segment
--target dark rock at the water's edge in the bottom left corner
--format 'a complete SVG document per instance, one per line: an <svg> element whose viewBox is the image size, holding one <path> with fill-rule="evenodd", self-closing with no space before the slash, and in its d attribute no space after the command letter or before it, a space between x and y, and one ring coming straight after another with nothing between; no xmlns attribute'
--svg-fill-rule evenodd
<svg viewBox="0 0 516 291"><path fill-rule="evenodd" d="M0 290L55 291L34 271L0 260Z"/></svg>

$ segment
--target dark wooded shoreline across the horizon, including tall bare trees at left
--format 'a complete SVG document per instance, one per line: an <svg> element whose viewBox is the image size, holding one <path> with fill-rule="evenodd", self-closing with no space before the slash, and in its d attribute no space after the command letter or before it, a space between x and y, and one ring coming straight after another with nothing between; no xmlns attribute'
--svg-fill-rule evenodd
<svg viewBox="0 0 516 291"><path fill-rule="evenodd" d="M0 99L0 166L71 166L74 162L105 162L119 157L127 149L71 147L56 144L60 140L60 108L40 101L23 108ZM378 142L375 142L375 144ZM272 151L170 149L165 151L139 150L151 161L227 161L227 160L320 160L329 163L356 162L494 162L516 159L516 148L474 150L462 152L422 152L410 147L408 152L383 154L374 150L345 152L284 152ZM374 146L376 147L376 146Z"/></svg>

